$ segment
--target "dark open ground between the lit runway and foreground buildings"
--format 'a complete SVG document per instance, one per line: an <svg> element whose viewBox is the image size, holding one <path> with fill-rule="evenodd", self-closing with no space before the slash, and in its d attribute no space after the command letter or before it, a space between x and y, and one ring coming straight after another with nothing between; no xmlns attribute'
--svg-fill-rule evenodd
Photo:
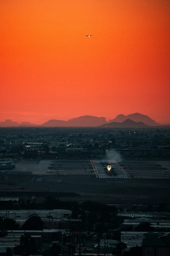
<svg viewBox="0 0 170 256"><path fill-rule="evenodd" d="M58 183L58 180L61 180ZM63 200L96 200L110 204L159 204L170 203L170 180L167 179L99 179L94 175L5 175L1 177L0 190L23 197L32 193L55 193ZM4 194L3 193L3 194ZM67 193L66 195L58 193ZM79 196L74 196L77 193ZM51 194L52 195L52 194ZM72 196L73 195L73 196Z"/></svg>

